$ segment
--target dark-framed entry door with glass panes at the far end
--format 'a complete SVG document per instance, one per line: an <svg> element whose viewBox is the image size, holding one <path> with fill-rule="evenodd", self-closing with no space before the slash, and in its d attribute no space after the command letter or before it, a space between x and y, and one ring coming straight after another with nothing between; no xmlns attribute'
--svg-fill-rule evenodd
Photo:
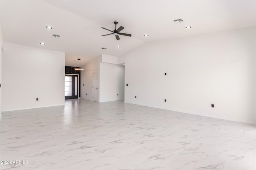
<svg viewBox="0 0 256 170"><path fill-rule="evenodd" d="M78 84L78 75L65 74L65 100L78 98Z"/></svg>

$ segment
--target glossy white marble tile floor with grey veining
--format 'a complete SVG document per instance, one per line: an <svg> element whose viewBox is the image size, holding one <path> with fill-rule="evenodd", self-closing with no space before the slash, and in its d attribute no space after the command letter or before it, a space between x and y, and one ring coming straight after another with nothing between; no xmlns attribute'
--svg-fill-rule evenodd
<svg viewBox="0 0 256 170"><path fill-rule="evenodd" d="M3 170L256 170L255 125L123 101L65 103L2 113Z"/></svg>

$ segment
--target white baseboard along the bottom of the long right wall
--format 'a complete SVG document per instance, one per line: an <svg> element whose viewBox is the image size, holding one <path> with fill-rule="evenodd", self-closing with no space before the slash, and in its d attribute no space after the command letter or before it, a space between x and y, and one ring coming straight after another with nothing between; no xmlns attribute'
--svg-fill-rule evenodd
<svg viewBox="0 0 256 170"><path fill-rule="evenodd" d="M152 106L152 105L147 105L147 104L138 104L138 103L126 102L126 101L124 101L124 103L136 104L136 105L140 105L140 106L154 107L154 108L158 108L158 109L170 110L168 108ZM170 110L170 111L177 111L177 112L180 112L180 113L186 113L186 112L180 111L180 110ZM221 117L221 116L214 116L214 115L208 115L208 114L198 114L198 113L186 113L186 114L205 116L205 117L211 117L211 118L216 118L216 119L222 119L222 120L228 120L228 121L236 121L236 122L240 122L240 123L247 123L247 124L256 125L255 121L246 121L246 120L234 119L234 118L230 118L230 117Z"/></svg>

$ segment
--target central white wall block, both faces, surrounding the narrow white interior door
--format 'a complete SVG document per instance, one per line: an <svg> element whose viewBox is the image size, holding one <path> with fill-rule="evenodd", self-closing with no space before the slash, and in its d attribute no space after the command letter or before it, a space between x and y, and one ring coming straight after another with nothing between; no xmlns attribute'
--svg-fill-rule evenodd
<svg viewBox="0 0 256 170"><path fill-rule="evenodd" d="M92 100L92 73L97 72L98 102L124 100L124 66L110 64L117 63L117 59L115 56L103 54L82 66L84 68L81 71L82 99Z"/></svg>

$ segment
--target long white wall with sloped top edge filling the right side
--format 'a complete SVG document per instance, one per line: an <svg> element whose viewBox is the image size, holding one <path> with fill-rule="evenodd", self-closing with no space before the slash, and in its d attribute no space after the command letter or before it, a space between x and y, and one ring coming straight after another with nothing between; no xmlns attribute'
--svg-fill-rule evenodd
<svg viewBox="0 0 256 170"><path fill-rule="evenodd" d="M142 45L118 58L125 102L256 123L255 39L254 27Z"/></svg>

